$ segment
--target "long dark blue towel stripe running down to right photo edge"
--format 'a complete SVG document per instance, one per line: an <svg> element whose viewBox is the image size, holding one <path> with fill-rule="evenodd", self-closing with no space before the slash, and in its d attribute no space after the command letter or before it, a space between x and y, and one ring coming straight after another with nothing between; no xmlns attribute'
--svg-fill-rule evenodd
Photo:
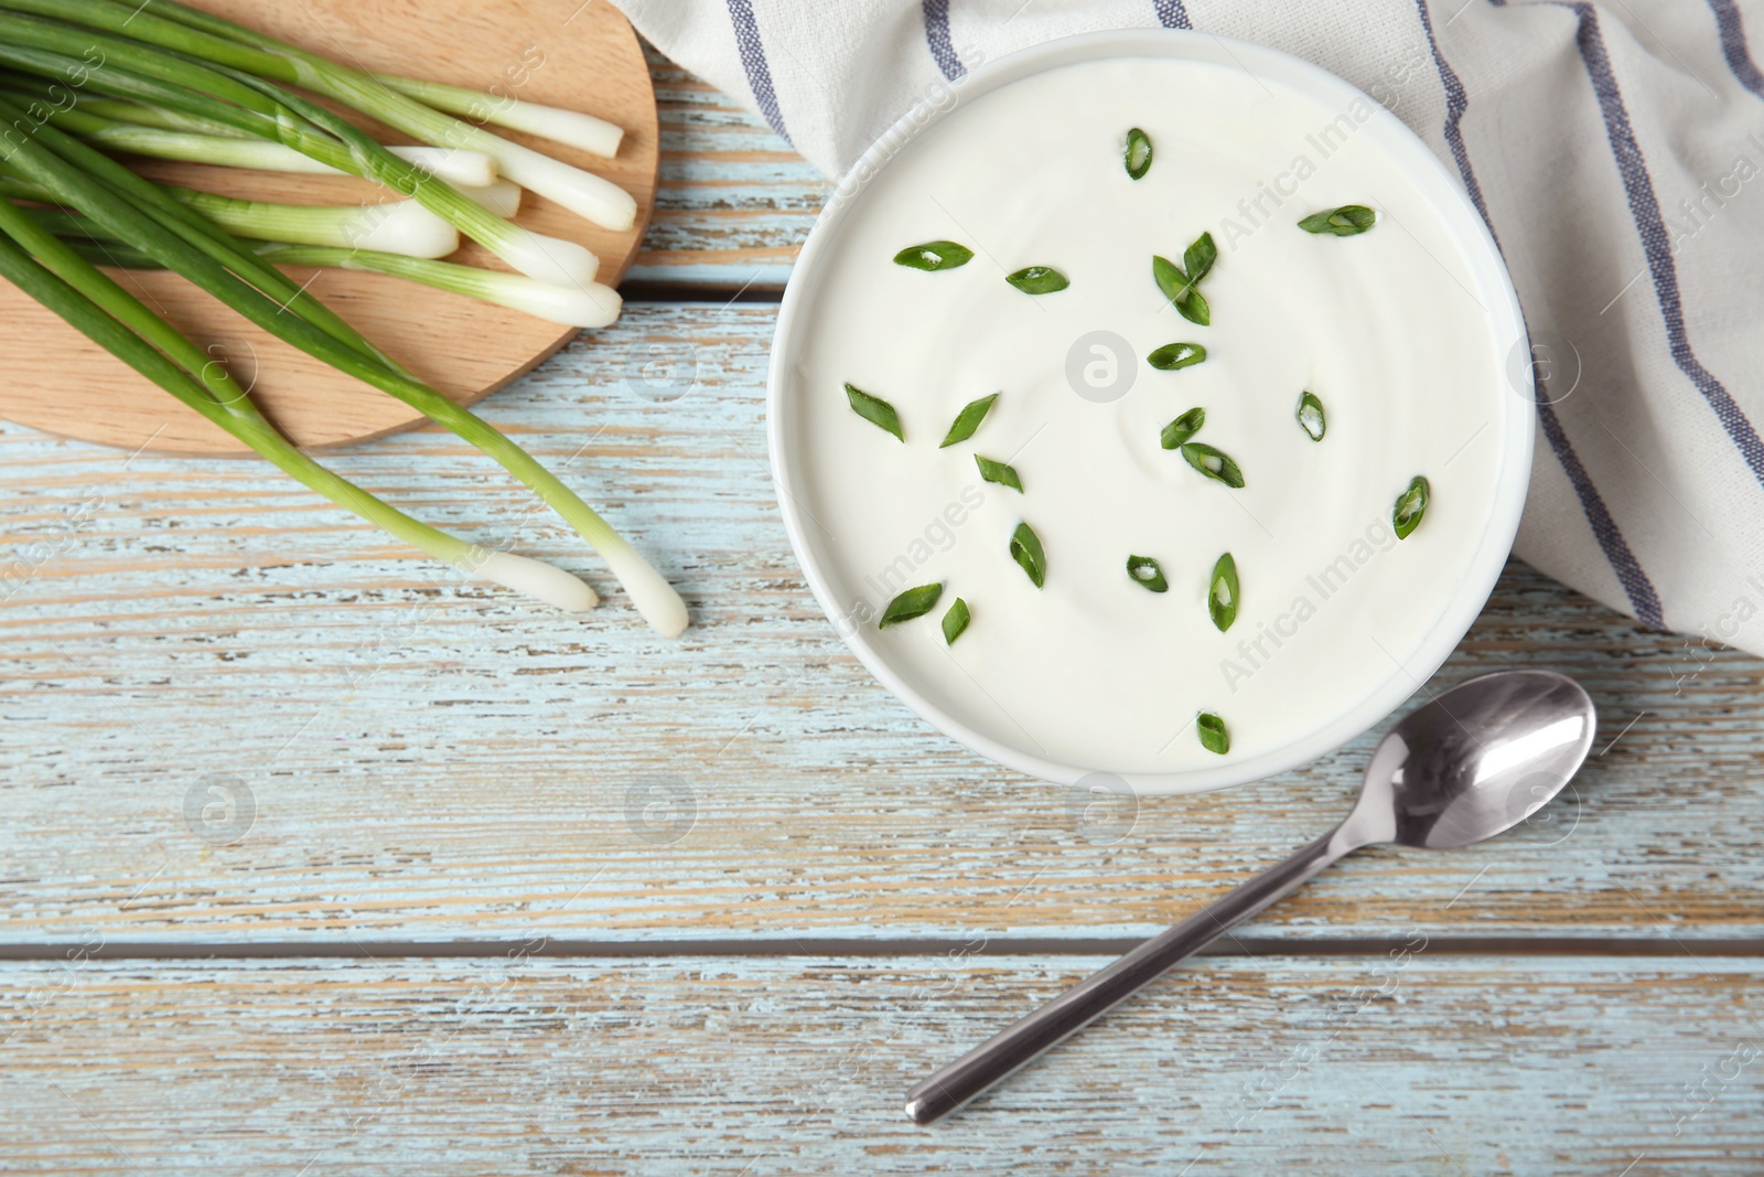
<svg viewBox="0 0 1764 1177"><path fill-rule="evenodd" d="M1660 199L1655 196L1653 178L1648 175L1648 161L1642 157L1641 143L1635 141L1633 127L1630 127L1630 113L1611 69L1611 56L1605 53L1605 39L1598 32L1598 12L1591 4L1563 4L1561 7L1573 9L1581 21L1575 42L1581 48L1586 72L1593 79L1598 108L1605 116L1605 138L1611 139L1611 152L1618 159L1618 173L1623 176L1623 191L1630 201L1630 217L1642 238L1648 270L1653 274L1655 300L1660 304L1660 318L1665 319L1672 362L1715 409L1715 416L1746 459L1746 466L1752 468L1752 476L1764 484L1764 441L1759 439L1757 429L1746 420L1745 411L1727 394L1722 381L1702 367L1702 360L1690 346L1690 335L1685 330L1685 304L1678 289L1678 265L1672 261L1672 238L1660 215Z"/></svg>

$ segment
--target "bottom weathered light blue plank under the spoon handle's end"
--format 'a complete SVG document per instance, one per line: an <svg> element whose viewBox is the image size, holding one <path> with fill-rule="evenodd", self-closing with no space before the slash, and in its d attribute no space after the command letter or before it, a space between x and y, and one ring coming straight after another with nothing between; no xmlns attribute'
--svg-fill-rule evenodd
<svg viewBox="0 0 1764 1177"><path fill-rule="evenodd" d="M1755 1173L1760 962L1205 960L960 1117L1099 960L4 965L7 1168Z"/></svg>

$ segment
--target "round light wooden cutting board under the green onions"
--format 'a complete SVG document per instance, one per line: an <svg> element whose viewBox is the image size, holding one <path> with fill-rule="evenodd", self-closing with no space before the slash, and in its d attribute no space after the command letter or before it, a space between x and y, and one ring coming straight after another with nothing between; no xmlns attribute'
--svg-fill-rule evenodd
<svg viewBox="0 0 1764 1177"><path fill-rule="evenodd" d="M617 159L598 159L513 132L624 187L637 224L610 233L526 194L517 221L600 256L616 286L654 208L656 104L630 23L607 0L198 0L199 7L360 69L445 81L587 111L624 129ZM407 136L358 120L386 143ZM298 205L386 199L351 176L303 176L141 161L157 180L228 196ZM452 261L506 268L476 245ZM573 328L376 274L288 270L309 289L446 395L471 404L531 371ZM125 288L205 348L228 356L263 411L309 448L342 446L423 418L282 344L164 272L120 274ZM243 446L150 385L14 286L0 282L0 416L127 450L240 454Z"/></svg>

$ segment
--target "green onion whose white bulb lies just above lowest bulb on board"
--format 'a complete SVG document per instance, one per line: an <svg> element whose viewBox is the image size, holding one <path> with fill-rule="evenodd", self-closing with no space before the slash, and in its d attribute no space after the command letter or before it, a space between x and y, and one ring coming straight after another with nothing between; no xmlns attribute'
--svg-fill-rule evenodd
<svg viewBox="0 0 1764 1177"><path fill-rule="evenodd" d="M86 4L108 7L106 0ZM226 65L198 65L148 44L92 34L60 21L16 16L4 12L4 7L0 4L0 64L46 78L83 76L86 86L102 94L145 99L180 113L228 122L420 201L527 277L559 286L594 281L600 263L582 245L533 233L492 215L453 185L393 155L360 127L316 102ZM78 5L69 11L76 9ZM83 53L101 53L102 67L93 69L76 56ZM39 127L39 134L41 131ZM506 176L520 184L520 176ZM531 184L526 187L538 191Z"/></svg>

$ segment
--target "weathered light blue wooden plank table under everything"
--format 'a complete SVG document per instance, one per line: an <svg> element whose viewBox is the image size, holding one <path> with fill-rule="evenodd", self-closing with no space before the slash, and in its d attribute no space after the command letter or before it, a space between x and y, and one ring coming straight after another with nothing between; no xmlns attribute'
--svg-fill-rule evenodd
<svg viewBox="0 0 1764 1177"><path fill-rule="evenodd" d="M683 588L683 641L446 434L335 466L603 609L452 579L256 462L0 427L0 1170L1764 1172L1760 663L1517 563L1438 681L1588 685L1545 821L1357 856L910 1126L930 1066L1321 831L1371 741L1087 821L882 692L766 468L827 185L654 78L624 319L485 411Z"/></svg>

